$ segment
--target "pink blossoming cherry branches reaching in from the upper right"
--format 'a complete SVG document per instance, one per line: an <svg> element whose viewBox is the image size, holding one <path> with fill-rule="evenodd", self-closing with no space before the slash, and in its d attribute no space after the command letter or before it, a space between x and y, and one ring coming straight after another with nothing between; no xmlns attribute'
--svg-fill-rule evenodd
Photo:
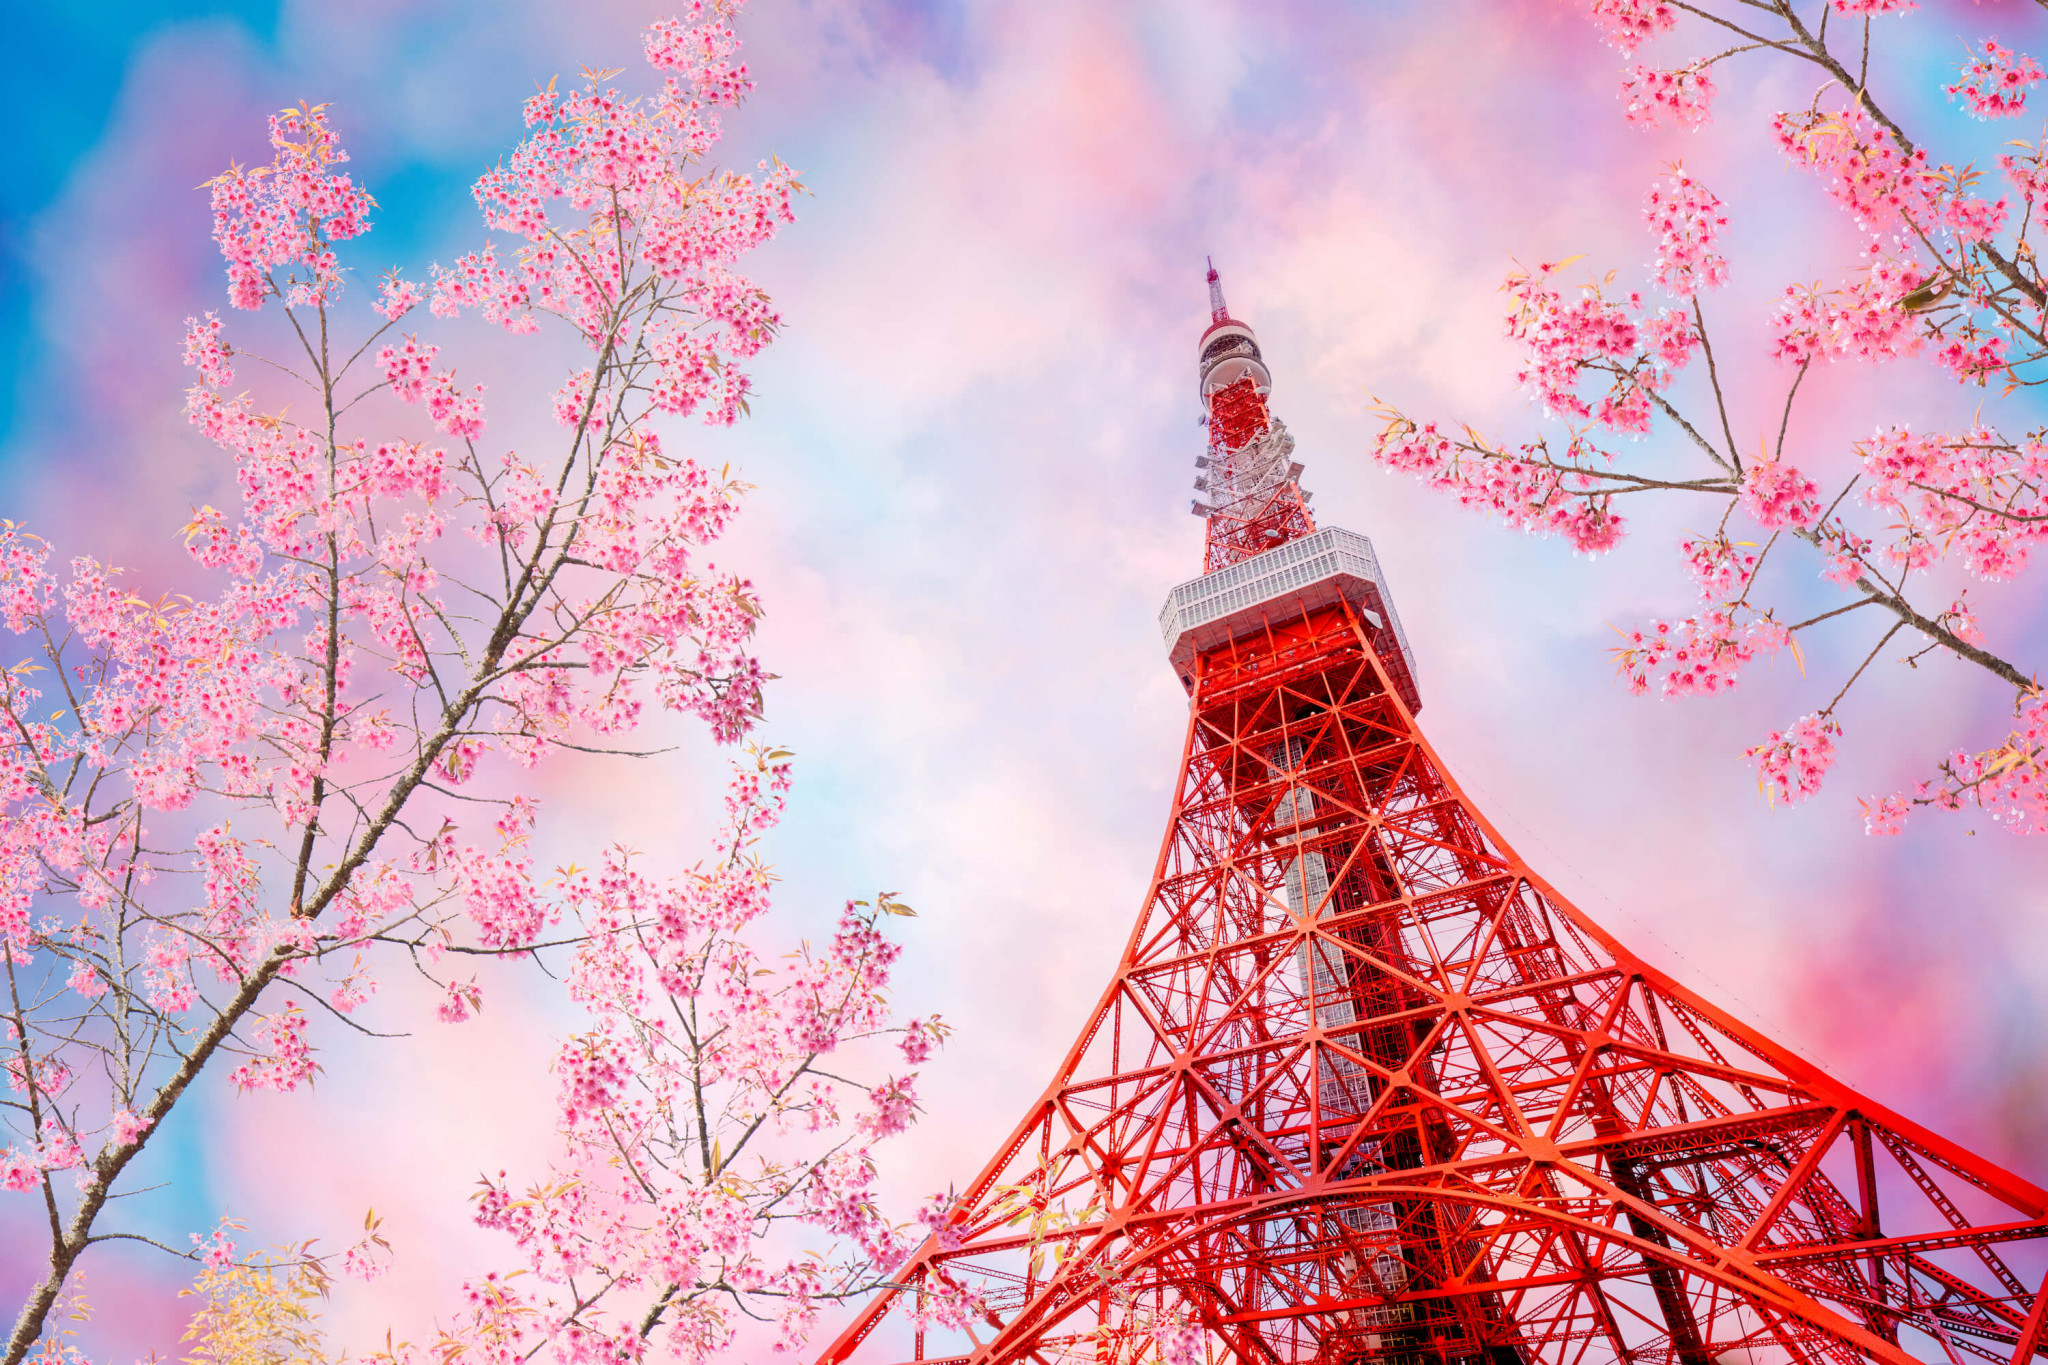
<svg viewBox="0 0 2048 1365"><path fill-rule="evenodd" d="M1745 661L1792 647L1798 630L1880 604L1892 618L1884 641L1913 628L1929 643L1927 651L1942 649L1982 667L2021 698L2038 696L2028 671L1982 641L1962 598L1942 612L1923 612L1911 604L1909 585L1913 575L1950 557L1991 581L2009 579L2028 565L2034 546L2048 540L2048 430L2009 440L1985 420L1972 424L1966 436L1923 436L1905 426L1884 426L1853 444L1860 469L1839 483L1833 503L1823 510L1819 485L1790 463L1790 417L1806 391L1804 379L1823 358L1898 362L1931 352L1929 358L1960 383L1982 387L2003 375L2007 393L2048 383L2048 375L2032 368L2048 358L2048 295L2028 244L2034 201L2048 199L2048 158L2023 143L2015 143L2019 156L2001 158L2019 190L2019 227L2007 231L2007 203L1978 199L1972 192L1976 174L1968 168L1931 166L1868 88L1876 33L1868 12L1858 23L1862 70L1851 70L1851 57L1829 47L1829 4L1821 6L1819 27L1808 27L1790 0L1741 0L1739 8L1759 16L1755 23L1716 12L1718 6L1704 0L1595 0L1589 8L1608 41L1630 55L1647 37L1671 29L1677 16L1741 39L1737 47L1669 72L1626 68L1622 94L1632 123L1704 125L1714 96L1706 70L1743 51L1769 49L1817 68L1825 84L1810 108L1778 115L1772 131L1786 156L1817 172L1829 196L1878 246L1849 284L1827 291L1794 287L1782 295L1772 311L1774 350L1794 372L1769 413L1776 436L1767 436L1761 456L1743 460L1733 438L1735 403L1720 381L1720 354L1708 336L1700 299L1729 278L1729 262L1716 248L1726 213L1718 196L1673 166L1653 184L1642 217L1659 244L1653 282L1677 299L1681 311L1653 307L1634 293L1614 295L1614 274L1585 284L1577 297L1552 282L1556 266L1518 268L1507 278L1505 289L1516 301L1509 336L1524 348L1518 383L1542 403L1546 415L1569 426L1567 456L1554 456L1540 438L1503 448L1477 436L1456 440L1393 409L1382 409L1386 430L1374 456L1499 516L1507 526L1565 534L1575 548L1599 555L1626 532L1614 512L1622 505L1616 501L1620 493L1677 491L1657 487L1677 481L1622 463L1620 452L1593 446L1591 434L1604 428L1642 436L1661 417L1726 475L1690 481L1686 491L1712 491L1726 503L1712 536L1688 536L1679 546L1704 606L1686 620L1649 622L1624 632L1626 643L1616 655L1632 690L1655 681L1665 696L1686 696L1735 686ZM1765 14L1767 20L1761 18ZM2048 80L2040 63L1999 43L1987 39L1982 55L1976 51L1948 92L1978 117L2017 113L2028 90ZM1843 92L1843 108L1823 106L1831 88ZM1702 379L1712 391L1726 454L1667 393L1694 356L1706 360ZM1858 534L1853 522L1860 518L1843 510L1851 491L1860 493L1862 508L1890 514L1882 538ZM1739 522L1772 532L1761 553L1749 548L1753 542L1735 538L1743 534L1735 530ZM1853 602L1808 612L1796 626L1778 622L1759 575L1786 530L1821 553L1823 577L1858 593ZM1835 706L1882 651L1884 645L1847 673L1829 708L1802 716L1749 751L1767 794L1798 800L1817 790L1841 733L1833 722ZM1927 651L1909 655L1907 663ZM2028 716L2034 712L2025 706L2015 737L2032 735L2028 724L2034 720ZM2032 753L2040 743L2048 741L2011 739L2005 751L1993 753ZM1958 755L1944 769L1952 786L1974 780L1972 763L1982 757ZM2003 757L1997 761L2007 763ZM1993 776L1972 790L1987 800L2015 802L2001 812L2015 827L2048 829L2048 786ZM1880 814L1872 817L1872 829L1896 827L1892 806Z"/></svg>

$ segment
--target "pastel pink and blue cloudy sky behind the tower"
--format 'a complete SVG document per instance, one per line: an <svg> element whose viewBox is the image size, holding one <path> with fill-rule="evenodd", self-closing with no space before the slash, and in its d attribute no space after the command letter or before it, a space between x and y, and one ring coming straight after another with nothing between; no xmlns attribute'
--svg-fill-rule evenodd
<svg viewBox="0 0 2048 1365"><path fill-rule="evenodd" d="M330 102L381 203L358 264L424 274L481 239L467 184L516 141L518 100L637 61L664 12L6 6L0 516L147 573L193 503L221 501L219 456L178 417L182 319L221 307L193 186L264 160L268 111ZM2005 131L1964 121L1939 84L1970 37L2048 51L2044 20L2019 0L1929 0L1888 20L1880 90L1937 156L1985 160ZM1260 334L1317 514L1378 548L1421 724L1505 837L1653 964L2048 1181L2048 843L1968 817L1878 841L1855 814L1995 743L2009 696L1886 659L1845 704L1827 792L1772 808L1741 751L1825 704L1868 634L1815 639L1804 673L1778 661L1733 696L1630 698L1614 626L1690 610L1683 508L1589 561L1366 456L1374 397L1540 430L1499 278L1583 252L1640 287L1638 207L1675 160L1729 203L1737 278L1712 309L1735 422L1761 440L1786 379L1761 313L1858 248L1769 143L1769 113L1812 96L1804 76L1731 63L1706 133L1642 133L1620 117L1616 53L1552 0L754 0L741 35L758 90L723 156L778 153L809 192L750 262L786 319L754 415L676 440L756 485L721 563L760 585L780 675L764 735L799 755L768 847L778 915L815 929L850 894L897 892L920 911L899 1005L956 1029L891 1189L981 1166L1143 898L1186 724L1157 610L1200 567L1204 254ZM1843 368L1802 403L1792 448L1819 469L1878 422L1954 420L1974 395ZM1825 610L1833 589L1788 591ZM1993 643L2042 667L2040 575L1978 600ZM571 767L547 796L565 843L686 851L717 763L688 747L631 788ZM170 1187L145 1218L182 1240L227 1209L258 1242L340 1246L375 1205L408 1273L332 1322L358 1347L387 1324L418 1334L481 1246L475 1177L543 1150L551 1083L506 1058L539 1056L547 1031L510 1007L360 1056L338 1044L311 1095L203 1097L164 1134ZM0 1209L0 1244L20 1216ZM0 1246L0 1302L31 1279L25 1257ZM172 1353L174 1285L147 1254L109 1254L88 1273L96 1349Z"/></svg>

